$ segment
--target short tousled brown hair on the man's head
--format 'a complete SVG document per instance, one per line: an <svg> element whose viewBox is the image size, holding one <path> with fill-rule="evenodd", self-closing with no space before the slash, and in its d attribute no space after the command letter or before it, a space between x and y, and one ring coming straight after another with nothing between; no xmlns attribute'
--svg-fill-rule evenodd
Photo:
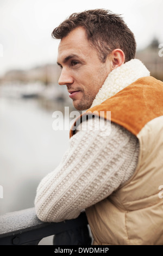
<svg viewBox="0 0 163 256"><path fill-rule="evenodd" d="M87 39L96 47L101 62L108 54L120 48L125 54L125 62L135 58L136 42L134 34L122 17L105 9L87 10L73 13L52 32L53 38L62 39L74 28L84 27Z"/></svg>

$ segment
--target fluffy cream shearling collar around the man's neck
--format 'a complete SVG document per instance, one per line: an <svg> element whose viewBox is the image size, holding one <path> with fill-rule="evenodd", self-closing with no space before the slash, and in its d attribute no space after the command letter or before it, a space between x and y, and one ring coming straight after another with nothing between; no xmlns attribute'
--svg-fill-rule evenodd
<svg viewBox="0 0 163 256"><path fill-rule="evenodd" d="M131 59L129 62L122 64L110 72L103 86L99 89L95 100L93 100L91 107L101 104L129 86L129 84L145 76L150 76L150 72L139 59Z"/></svg>

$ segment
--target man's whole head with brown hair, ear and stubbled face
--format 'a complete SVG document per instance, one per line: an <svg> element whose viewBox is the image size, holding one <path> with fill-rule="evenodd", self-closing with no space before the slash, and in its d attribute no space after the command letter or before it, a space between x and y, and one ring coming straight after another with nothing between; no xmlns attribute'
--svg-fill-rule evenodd
<svg viewBox="0 0 163 256"><path fill-rule="evenodd" d="M135 57L133 33L120 16L108 10L72 14L54 29L52 36L61 39L59 84L66 84L78 110L92 105L113 69Z"/></svg>

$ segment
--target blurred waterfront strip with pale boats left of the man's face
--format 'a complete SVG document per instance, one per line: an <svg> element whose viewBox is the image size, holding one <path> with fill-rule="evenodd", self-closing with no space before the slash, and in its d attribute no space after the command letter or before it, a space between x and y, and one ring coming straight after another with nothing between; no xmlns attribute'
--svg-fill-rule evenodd
<svg viewBox="0 0 163 256"><path fill-rule="evenodd" d="M14 99L35 98L47 110L72 110L72 100L65 86L59 86L60 68L57 64L36 66L27 70L9 70L0 77L0 96Z"/></svg>

